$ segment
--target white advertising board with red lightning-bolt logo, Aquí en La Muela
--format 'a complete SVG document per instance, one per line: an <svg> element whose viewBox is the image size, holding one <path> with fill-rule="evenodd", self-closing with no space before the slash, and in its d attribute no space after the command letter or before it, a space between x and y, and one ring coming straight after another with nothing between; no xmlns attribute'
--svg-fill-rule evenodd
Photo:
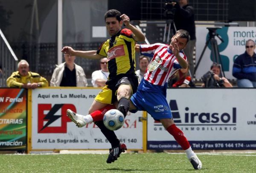
<svg viewBox="0 0 256 173"><path fill-rule="evenodd" d="M91 123L77 128L67 117L67 109L86 115L100 89L43 88L32 90L32 150L108 149L111 147L100 129ZM128 115L116 136L128 149L142 149L143 112Z"/></svg>

